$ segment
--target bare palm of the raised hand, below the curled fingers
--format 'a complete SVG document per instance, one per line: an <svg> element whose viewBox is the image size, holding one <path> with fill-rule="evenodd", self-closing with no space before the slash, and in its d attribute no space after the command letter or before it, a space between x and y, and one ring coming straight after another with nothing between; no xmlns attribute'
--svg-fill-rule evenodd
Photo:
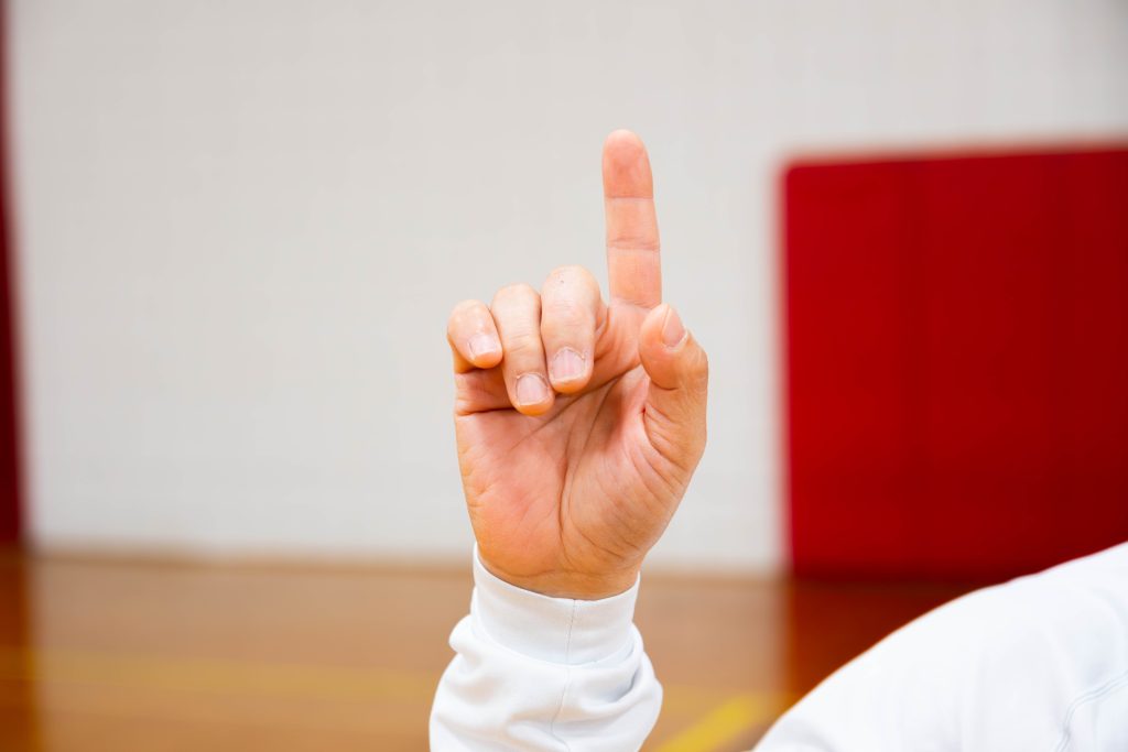
<svg viewBox="0 0 1128 752"><path fill-rule="evenodd" d="M470 519L483 556L501 569L590 574L649 549L666 527L677 480L646 432L650 379L636 344L645 312L608 308L591 382L548 413L467 405L457 416Z"/></svg>

